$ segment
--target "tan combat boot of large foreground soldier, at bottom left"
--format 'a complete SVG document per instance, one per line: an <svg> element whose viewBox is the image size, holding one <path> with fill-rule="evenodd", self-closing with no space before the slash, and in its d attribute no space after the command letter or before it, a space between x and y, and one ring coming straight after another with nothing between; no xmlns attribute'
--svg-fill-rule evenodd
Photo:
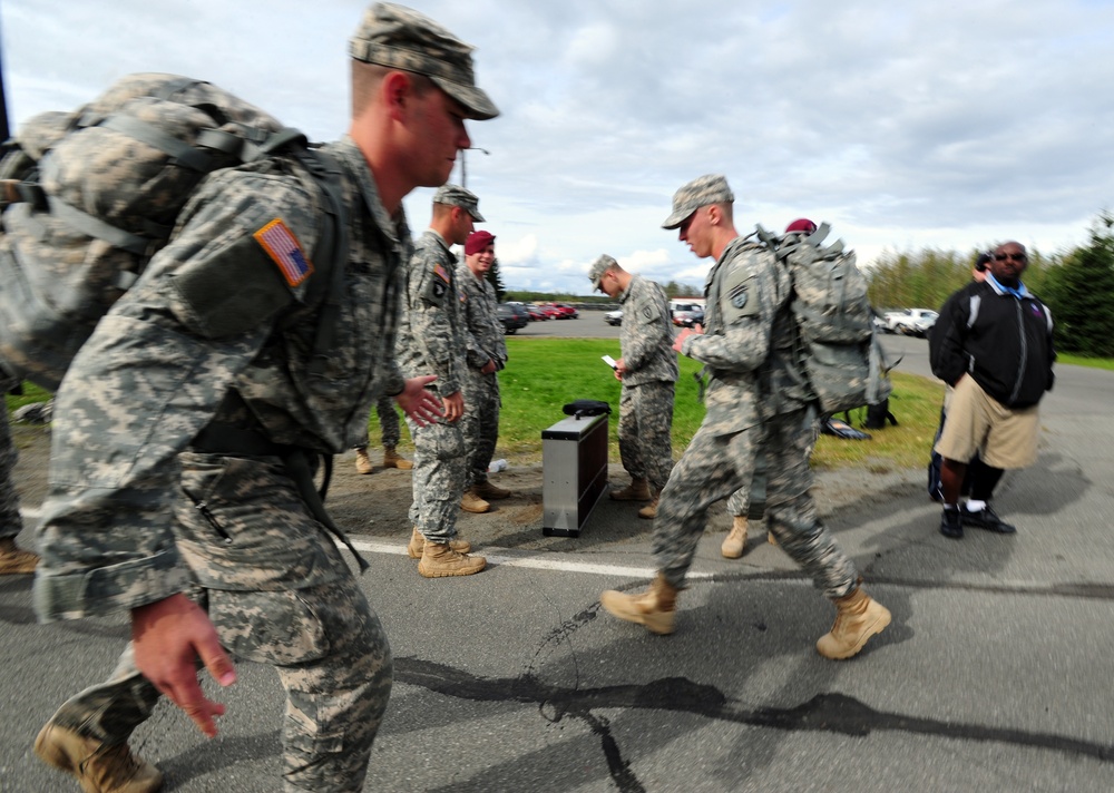
<svg viewBox="0 0 1114 793"><path fill-rule="evenodd" d="M131 754L127 743L104 744L53 722L39 731L35 753L74 774L85 793L154 793L163 786L163 772Z"/></svg>

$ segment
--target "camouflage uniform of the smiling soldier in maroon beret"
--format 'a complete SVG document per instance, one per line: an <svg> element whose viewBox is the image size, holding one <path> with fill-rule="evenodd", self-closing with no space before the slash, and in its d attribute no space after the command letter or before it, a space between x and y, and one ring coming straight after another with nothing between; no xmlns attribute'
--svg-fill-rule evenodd
<svg viewBox="0 0 1114 793"><path fill-rule="evenodd" d="M463 295L463 329L468 346L465 368L465 418L461 431L468 449L465 487L483 484L487 469L499 440L499 375L507 365L507 341L496 311L495 287L487 278L477 278L467 264L457 265L457 283ZM480 370L488 361L495 372Z"/></svg>

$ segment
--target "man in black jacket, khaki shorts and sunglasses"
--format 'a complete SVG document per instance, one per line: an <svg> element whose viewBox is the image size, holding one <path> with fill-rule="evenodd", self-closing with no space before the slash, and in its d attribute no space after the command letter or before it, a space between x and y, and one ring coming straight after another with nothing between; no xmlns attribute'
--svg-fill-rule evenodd
<svg viewBox="0 0 1114 793"><path fill-rule="evenodd" d="M959 506L967 463L976 453L993 469L1036 461L1038 404L1052 389L1056 353L1052 313L1020 281L1027 265L1024 245L999 245L986 280L947 300L929 339L932 373L954 386L936 444L944 458L940 533L951 539L964 536L964 525L1015 531L987 501L971 498Z"/></svg>

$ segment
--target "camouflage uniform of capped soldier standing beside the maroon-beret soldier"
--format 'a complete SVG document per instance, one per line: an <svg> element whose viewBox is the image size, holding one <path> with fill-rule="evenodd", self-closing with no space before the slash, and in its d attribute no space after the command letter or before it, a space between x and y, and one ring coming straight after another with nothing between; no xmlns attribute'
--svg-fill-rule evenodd
<svg viewBox="0 0 1114 793"><path fill-rule="evenodd" d="M456 257L431 228L418 238L404 281L399 326L399 365L407 378L436 374L429 388L449 396L463 388L465 340ZM410 522L427 539L447 544L457 533L467 477L459 422L438 419L427 427L407 420L414 442Z"/></svg>

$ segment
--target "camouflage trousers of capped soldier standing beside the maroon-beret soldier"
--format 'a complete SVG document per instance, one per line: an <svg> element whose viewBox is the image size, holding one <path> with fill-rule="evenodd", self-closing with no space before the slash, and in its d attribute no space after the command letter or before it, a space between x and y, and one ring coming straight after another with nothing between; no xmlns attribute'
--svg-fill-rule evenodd
<svg viewBox="0 0 1114 793"><path fill-rule="evenodd" d="M438 421L418 427L407 419L407 425L414 440L410 522L426 539L448 542L457 536L460 497L468 476L460 423Z"/></svg>

